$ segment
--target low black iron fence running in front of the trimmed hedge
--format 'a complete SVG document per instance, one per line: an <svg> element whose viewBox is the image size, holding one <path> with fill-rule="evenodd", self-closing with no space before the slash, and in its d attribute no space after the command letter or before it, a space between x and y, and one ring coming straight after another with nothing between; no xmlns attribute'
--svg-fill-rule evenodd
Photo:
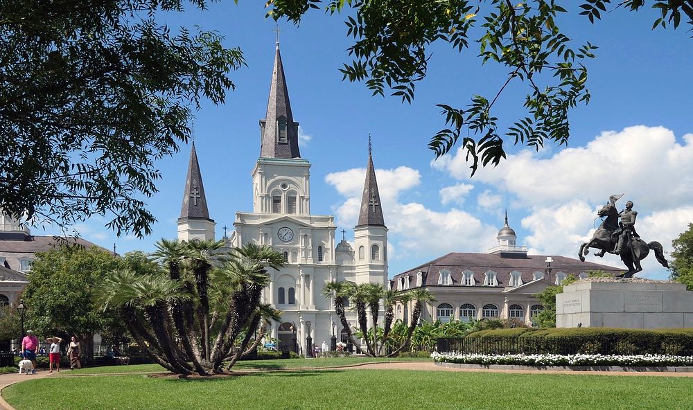
<svg viewBox="0 0 693 410"><path fill-rule="evenodd" d="M693 355L693 336L668 338L592 337L464 337L438 339L437 351L466 354L553 355Z"/></svg>

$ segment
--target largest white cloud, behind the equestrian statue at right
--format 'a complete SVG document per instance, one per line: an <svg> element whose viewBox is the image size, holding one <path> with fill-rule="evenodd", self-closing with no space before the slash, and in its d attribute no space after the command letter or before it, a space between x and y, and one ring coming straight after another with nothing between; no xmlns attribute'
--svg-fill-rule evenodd
<svg viewBox="0 0 693 410"><path fill-rule="evenodd" d="M530 233L528 247L536 253L577 257L579 244L591 238L599 224L597 208L609 195L620 193L625 195L617 206L631 200L639 211L636 226L642 239L656 240L668 251L672 239L693 221L688 205L693 203L693 134L680 141L665 127L627 127L553 154L522 150L496 168L480 169L472 180L508 193L514 207L527 211L522 226ZM460 149L432 167L468 181ZM486 198L480 195L477 201L482 206ZM621 266L615 256L588 260ZM666 276L653 256L643 267L644 276Z"/></svg>

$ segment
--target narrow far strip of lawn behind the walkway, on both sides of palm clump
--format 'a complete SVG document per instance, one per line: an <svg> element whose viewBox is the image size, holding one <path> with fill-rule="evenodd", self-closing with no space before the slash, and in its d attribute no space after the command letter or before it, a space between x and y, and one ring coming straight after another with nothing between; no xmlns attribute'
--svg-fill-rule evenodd
<svg viewBox="0 0 693 410"><path fill-rule="evenodd" d="M349 366L359 363L374 362L431 362L431 359L414 357L394 357L385 359L382 357L329 357L324 359L275 359L275 360L243 360L236 363L234 370L280 370L283 368L317 368ZM76 369L71 374L98 374L98 373L155 373L165 371L158 364L132 364L129 366L102 366Z"/></svg>

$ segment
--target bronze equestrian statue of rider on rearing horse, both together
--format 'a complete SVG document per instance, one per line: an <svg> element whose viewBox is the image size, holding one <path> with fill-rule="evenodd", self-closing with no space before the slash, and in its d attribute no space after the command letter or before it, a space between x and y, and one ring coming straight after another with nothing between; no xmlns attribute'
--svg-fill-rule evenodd
<svg viewBox="0 0 693 410"><path fill-rule="evenodd" d="M606 205L597 212L599 217L606 217L606 219L599 225L599 229L590 242L585 242L580 247L578 253L580 260L585 261L585 255L590 253L589 248L599 249L600 251L595 253L599 258L602 258L607 252L619 255L624 265L628 267L628 271L619 277L631 278L634 274L642 271L640 260L646 258L652 249L657 261L663 267L668 268L669 263L664 258L662 244L656 241L646 243L640 239L640 235L635 231L635 218L638 213L633 211L633 202L626 202L626 209L620 213L616 210L616 201L622 196L623 194L611 195ZM620 221L619 217L621 218Z"/></svg>

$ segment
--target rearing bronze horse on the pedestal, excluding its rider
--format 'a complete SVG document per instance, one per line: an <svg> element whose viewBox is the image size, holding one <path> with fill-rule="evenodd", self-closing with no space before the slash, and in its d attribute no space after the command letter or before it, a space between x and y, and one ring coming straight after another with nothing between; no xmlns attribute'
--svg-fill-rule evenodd
<svg viewBox="0 0 693 410"><path fill-rule="evenodd" d="M597 215L604 218L604 222L599 225L599 229L595 232L590 242L585 242L581 245L578 256L581 261L585 261L585 255L590 253L589 248L599 249L598 253L595 255L602 258L605 253L613 253L616 243L618 242L618 236L615 235L617 229L619 229L618 216L619 213L616 210L616 201L622 197L621 195L611 195L609 197L608 203L599 209ZM628 271L619 277L622 278L632 278L634 274L642 271L642 266L640 266L640 260L643 260L649 254L650 249L654 251L654 255L657 261L662 264L663 267L669 267L669 263L664 258L664 251L662 244L656 241L649 243L644 242L637 236L631 236L630 240L626 240L624 246L621 248L620 257L624 265L628 267Z"/></svg>

